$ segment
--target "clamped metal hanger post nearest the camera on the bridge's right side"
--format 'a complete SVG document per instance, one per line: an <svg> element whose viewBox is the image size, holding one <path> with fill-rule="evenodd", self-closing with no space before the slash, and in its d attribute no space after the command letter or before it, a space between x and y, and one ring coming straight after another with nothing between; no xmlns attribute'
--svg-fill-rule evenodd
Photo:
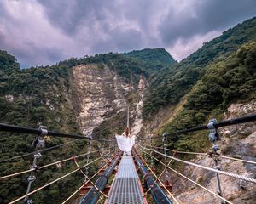
<svg viewBox="0 0 256 204"><path fill-rule="evenodd" d="M213 145L212 145L212 157L215 163L215 168L220 170L220 166L218 165L218 161L219 159L215 156L218 155L218 144L217 144L217 140L219 140L219 135L218 135L218 129L216 127L214 127L214 123L216 123L217 120L216 119L212 119L209 121L209 123L207 124L207 127L210 129L210 133L209 133L209 140L212 141ZM221 185L220 185L220 178L219 178L219 173L216 173L216 177L217 177L217 182L218 182L218 195L223 197L222 195L222 190L221 190ZM226 204L225 201L221 201L221 204Z"/></svg>

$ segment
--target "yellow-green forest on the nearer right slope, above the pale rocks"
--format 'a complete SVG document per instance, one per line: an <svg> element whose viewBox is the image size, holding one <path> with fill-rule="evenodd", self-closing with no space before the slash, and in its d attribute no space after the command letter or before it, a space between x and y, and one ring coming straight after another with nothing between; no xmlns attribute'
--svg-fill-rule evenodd
<svg viewBox="0 0 256 204"><path fill-rule="evenodd" d="M195 127L208 117L222 119L222 113L232 102L256 99L256 41L248 42L227 59L207 66L201 80L196 82L188 95L187 103L177 117L164 127L165 132ZM206 136L173 138L172 148L200 150Z"/></svg>

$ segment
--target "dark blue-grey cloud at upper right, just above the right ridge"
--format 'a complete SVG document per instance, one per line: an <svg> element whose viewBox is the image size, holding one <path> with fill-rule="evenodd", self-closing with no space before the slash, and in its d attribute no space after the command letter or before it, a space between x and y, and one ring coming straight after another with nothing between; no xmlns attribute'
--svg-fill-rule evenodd
<svg viewBox="0 0 256 204"><path fill-rule="evenodd" d="M190 5L191 6L191 5ZM175 11L171 8L160 23L164 44L173 45L178 38L189 39L209 31L223 31L256 14L256 1L194 1L192 7Z"/></svg>

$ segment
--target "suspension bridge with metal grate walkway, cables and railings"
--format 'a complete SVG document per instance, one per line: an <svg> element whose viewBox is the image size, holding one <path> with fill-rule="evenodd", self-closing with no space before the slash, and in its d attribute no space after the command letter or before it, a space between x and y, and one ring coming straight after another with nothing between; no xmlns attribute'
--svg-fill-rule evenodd
<svg viewBox="0 0 256 204"><path fill-rule="evenodd" d="M170 180L163 179L163 175L166 173L166 170L170 170L173 173L176 173L178 177L181 177L192 184L195 184L196 187L205 190L206 193L211 194L216 198L215 203L232 203L226 199L222 192L222 186L220 183L219 175L224 175L231 178L236 178L243 180L248 183L256 184L255 178L249 178L242 176L236 173L230 173L224 170L221 170L218 167L219 159L228 159L230 161L241 161L243 163L249 163L256 165L255 161L247 161L239 158L234 158L230 156L223 156L218 153L218 127L225 127L230 125L236 125L245 122L255 122L256 114L250 116L242 116L234 118L232 120L226 120L223 122L217 122L216 120L211 120L207 125L201 125L198 127L193 127L189 129L179 130L175 133L164 133L162 136L150 136L144 137L142 139L137 139L137 144L134 145L130 152L122 152L117 150L116 144L113 142L113 139L92 139L90 137L84 137L77 134L68 134L68 133L55 133L47 130L46 127L28 128L28 127L18 127L8 124L0 123L0 131L11 132L11 133L26 133L34 134L35 140L33 142L35 151L20 155L14 156L11 158L5 158L0 161L9 162L17 160L26 156L33 156L32 165L29 169L24 171L10 173L8 175L1 175L0 180L4 182L7 179L12 179L18 177L22 174L27 175L27 189L24 192L24 195L20 197L13 198L12 201L8 203L16 203L19 201L26 201L26 203L32 203L32 195L36 194L40 190L45 190L48 186L57 184L61 182L62 179L67 178L68 176L80 173L84 177L84 181L81 181L81 186L78 189L73 190L72 195L67 195L66 198L63 198L61 203L73 203L74 198L79 196L80 204L89 204L89 203L151 203L148 201L148 196L151 195L155 203L182 203L178 201L176 196L172 194L172 186ZM177 136L185 133L192 133L201 130L209 130L208 138L212 141L212 152L211 154L201 153L201 152L189 152L189 151L180 151L180 150L170 150L167 149L167 139L172 136ZM44 148L44 137L62 137L73 139L71 142L64 144L58 144L50 148ZM162 139L162 146L154 146L153 139ZM60 161L54 161L44 166L39 166L38 162L41 157L41 154L44 154L45 151L54 150L60 148L61 146L75 143L85 139L89 141L88 151L65 158ZM144 140L150 140L150 145L142 144ZM106 144L99 150L91 150L91 144L104 143ZM171 154L169 154L171 152ZM185 161L178 157L180 154L189 154L189 155L199 155L199 156L211 156L215 161L215 167L206 167L200 164ZM95 155L95 159L90 159L91 155ZM79 160L84 160L85 164L81 164ZM150 163L148 163L148 160ZM100 162L99 162L100 161ZM215 173L218 184L218 192L209 190L203 185L197 183L192 178L188 178L183 173L175 170L172 167L172 161L177 161L183 163L184 165L189 165L195 168L201 168L209 172ZM73 162L75 169L69 173L64 173L61 177L55 178L54 180L49 181L49 183L44 184L36 189L33 189L33 182L36 182L37 173L39 171L44 171L48 167L53 167L61 163ZM100 163L100 166L97 167L96 173L89 176L89 170L91 165L96 165ZM161 165L162 171L156 173L154 169L154 163ZM33 189L33 190L32 190ZM150 201L152 201L152 198ZM77 200L76 200L77 201ZM37 203L37 201L33 201Z"/></svg>

